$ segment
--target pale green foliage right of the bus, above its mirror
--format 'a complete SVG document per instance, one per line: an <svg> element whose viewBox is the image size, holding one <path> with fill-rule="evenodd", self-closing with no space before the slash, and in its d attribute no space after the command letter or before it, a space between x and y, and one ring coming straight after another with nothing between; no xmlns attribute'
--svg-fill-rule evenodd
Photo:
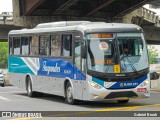
<svg viewBox="0 0 160 120"><path fill-rule="evenodd" d="M158 52L157 50L153 50L152 48L148 49L150 64L158 63Z"/></svg>

